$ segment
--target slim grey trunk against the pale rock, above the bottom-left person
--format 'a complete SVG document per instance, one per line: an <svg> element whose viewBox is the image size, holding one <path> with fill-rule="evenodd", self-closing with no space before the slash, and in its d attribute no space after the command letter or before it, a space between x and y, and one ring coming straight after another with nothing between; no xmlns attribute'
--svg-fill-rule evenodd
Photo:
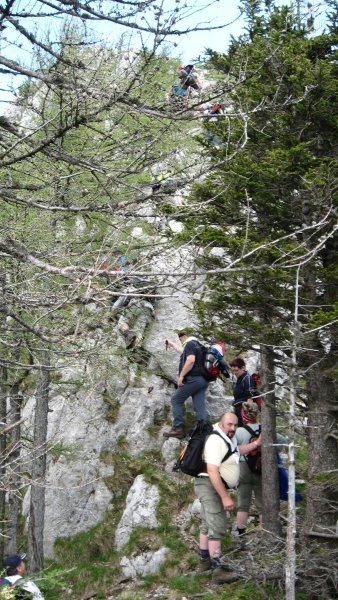
<svg viewBox="0 0 338 600"><path fill-rule="evenodd" d="M43 568L43 529L45 522L45 478L50 374L49 354L43 352L36 387L32 484L28 526L29 565L32 572Z"/></svg>

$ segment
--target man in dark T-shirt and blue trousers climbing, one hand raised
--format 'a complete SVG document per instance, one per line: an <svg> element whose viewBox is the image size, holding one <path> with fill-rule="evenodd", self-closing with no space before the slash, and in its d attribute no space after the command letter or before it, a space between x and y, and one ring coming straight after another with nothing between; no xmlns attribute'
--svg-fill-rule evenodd
<svg viewBox="0 0 338 600"><path fill-rule="evenodd" d="M198 421L206 421L208 414L205 408L205 392L208 381L201 375L204 363L202 346L197 338L189 336L187 331L178 333L180 344L166 340L166 346L174 348L181 353L177 389L171 397L173 425L169 431L165 431L166 438L175 437L183 439L185 436L185 424L183 418L183 404L192 397L194 411Z"/></svg>

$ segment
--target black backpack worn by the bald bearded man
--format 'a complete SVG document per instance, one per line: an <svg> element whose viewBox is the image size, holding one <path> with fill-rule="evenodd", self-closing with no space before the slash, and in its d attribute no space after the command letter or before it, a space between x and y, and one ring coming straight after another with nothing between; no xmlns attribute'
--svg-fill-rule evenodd
<svg viewBox="0 0 338 600"><path fill-rule="evenodd" d="M192 477L197 477L199 473L206 473L206 464L202 455L206 439L209 435L219 435L219 437L224 440L223 436L221 436L218 431L214 431L211 423L206 421L197 423L191 430L188 443L185 448L183 448L179 459L174 464L173 471L182 471L182 473L191 475ZM224 442L228 446L228 449L222 459L222 463L236 452L236 449L231 450L226 440L224 440Z"/></svg>

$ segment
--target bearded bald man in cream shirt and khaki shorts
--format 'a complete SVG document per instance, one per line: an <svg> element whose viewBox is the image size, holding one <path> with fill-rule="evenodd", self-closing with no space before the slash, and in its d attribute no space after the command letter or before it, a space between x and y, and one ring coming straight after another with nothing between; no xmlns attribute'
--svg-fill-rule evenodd
<svg viewBox="0 0 338 600"><path fill-rule="evenodd" d="M238 445L237 426L237 416L229 412L214 425L214 431L220 435L210 435L207 438L203 453L207 472L200 473L194 482L195 494L201 502L199 570L211 569L215 583L231 583L238 579L235 573L226 570L221 559L221 539L227 531L226 513L234 509L229 490L238 485L240 456L261 445L261 437L250 444ZM232 453L222 462L229 447Z"/></svg>

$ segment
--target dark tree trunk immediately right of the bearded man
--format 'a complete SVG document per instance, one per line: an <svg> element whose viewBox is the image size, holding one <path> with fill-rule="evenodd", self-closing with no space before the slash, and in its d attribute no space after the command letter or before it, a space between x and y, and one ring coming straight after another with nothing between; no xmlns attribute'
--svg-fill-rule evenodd
<svg viewBox="0 0 338 600"><path fill-rule="evenodd" d="M274 354L271 348L261 349L262 383L262 491L263 491L263 527L273 537L281 535L279 520L279 481L276 461L276 397L274 394Z"/></svg>

